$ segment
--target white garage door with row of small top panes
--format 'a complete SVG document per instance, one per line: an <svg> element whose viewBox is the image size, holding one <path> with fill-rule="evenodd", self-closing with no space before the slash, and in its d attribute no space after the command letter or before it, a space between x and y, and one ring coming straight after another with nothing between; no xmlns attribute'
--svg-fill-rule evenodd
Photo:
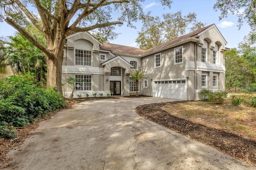
<svg viewBox="0 0 256 170"><path fill-rule="evenodd" d="M153 96L187 100L186 80L154 81Z"/></svg>

